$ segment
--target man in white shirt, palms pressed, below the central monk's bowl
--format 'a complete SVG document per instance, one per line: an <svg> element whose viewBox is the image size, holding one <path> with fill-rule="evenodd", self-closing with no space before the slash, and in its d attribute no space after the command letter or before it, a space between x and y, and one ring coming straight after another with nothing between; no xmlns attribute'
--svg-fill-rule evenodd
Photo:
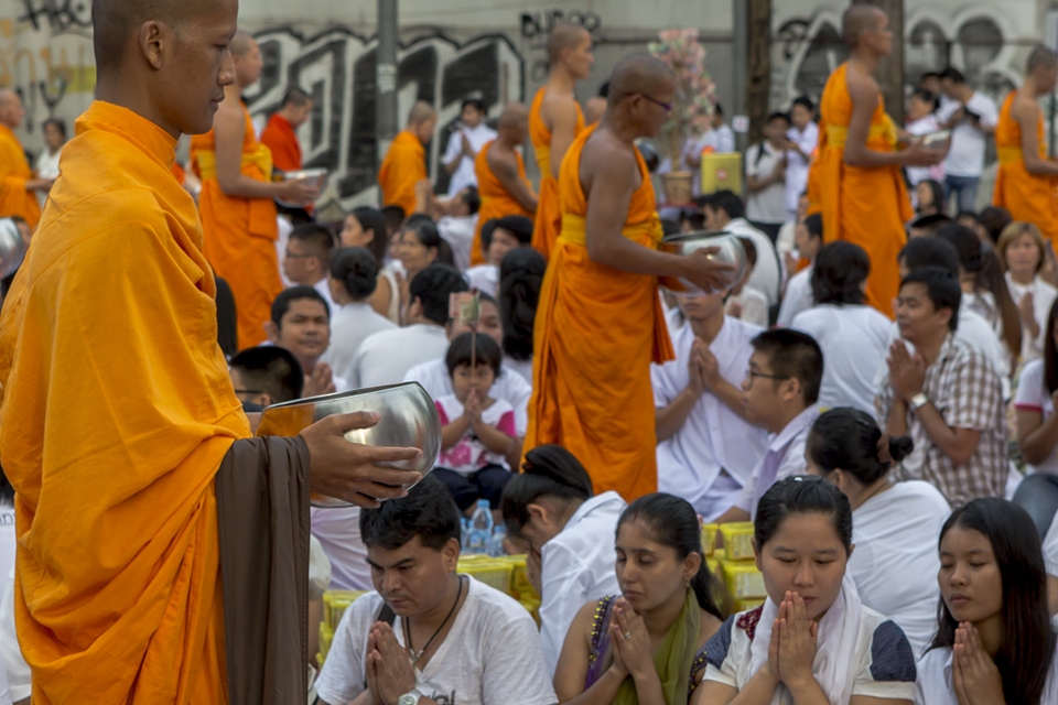
<svg viewBox="0 0 1058 705"><path fill-rule="evenodd" d="M767 447L767 431L745 419L738 388L762 328L725 316L723 294L679 303L687 323L672 333L676 359L650 368L658 490L691 502L709 522L735 502Z"/></svg>

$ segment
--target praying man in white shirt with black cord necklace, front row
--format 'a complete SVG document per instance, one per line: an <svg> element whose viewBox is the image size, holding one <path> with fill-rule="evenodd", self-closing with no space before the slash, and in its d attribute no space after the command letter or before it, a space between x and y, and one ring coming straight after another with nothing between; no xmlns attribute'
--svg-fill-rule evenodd
<svg viewBox="0 0 1058 705"><path fill-rule="evenodd" d="M349 607L316 681L322 705L553 705L537 626L456 573L460 511L433 477L360 514L376 593Z"/></svg>

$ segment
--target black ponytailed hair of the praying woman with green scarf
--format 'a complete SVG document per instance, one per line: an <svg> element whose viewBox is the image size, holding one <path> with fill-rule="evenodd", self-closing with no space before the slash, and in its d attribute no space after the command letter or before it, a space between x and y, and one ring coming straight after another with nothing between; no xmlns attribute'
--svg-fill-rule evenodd
<svg viewBox="0 0 1058 705"><path fill-rule="evenodd" d="M665 492L646 495L628 505L617 520L617 531L633 520L643 522L655 541L676 549L681 561L692 553L701 556L702 565L691 578L698 606L720 620L726 619L731 612L731 596L705 564L702 528L690 502Z"/></svg>

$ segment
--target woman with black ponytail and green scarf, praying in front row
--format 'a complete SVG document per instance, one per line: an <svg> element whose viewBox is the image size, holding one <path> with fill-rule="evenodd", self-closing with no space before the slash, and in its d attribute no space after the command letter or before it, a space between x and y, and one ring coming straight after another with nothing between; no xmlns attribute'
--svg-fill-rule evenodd
<svg viewBox="0 0 1058 705"><path fill-rule="evenodd" d="M728 601L705 565L701 535L694 509L671 495L640 497L622 513L620 595L591 601L574 618L554 675L560 703L690 699Z"/></svg>

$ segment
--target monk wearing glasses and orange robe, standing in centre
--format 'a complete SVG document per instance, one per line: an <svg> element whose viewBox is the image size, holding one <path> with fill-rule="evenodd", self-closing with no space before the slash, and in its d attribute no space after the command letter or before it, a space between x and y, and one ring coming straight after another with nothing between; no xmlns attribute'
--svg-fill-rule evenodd
<svg viewBox="0 0 1058 705"><path fill-rule="evenodd" d="M650 362L672 359L658 276L709 291L731 273L704 250L657 250L661 221L634 141L658 133L674 94L672 73L651 56L614 68L606 113L562 163L562 230L537 308L525 449L559 444L582 458L596 491L628 501L657 491Z"/></svg>

